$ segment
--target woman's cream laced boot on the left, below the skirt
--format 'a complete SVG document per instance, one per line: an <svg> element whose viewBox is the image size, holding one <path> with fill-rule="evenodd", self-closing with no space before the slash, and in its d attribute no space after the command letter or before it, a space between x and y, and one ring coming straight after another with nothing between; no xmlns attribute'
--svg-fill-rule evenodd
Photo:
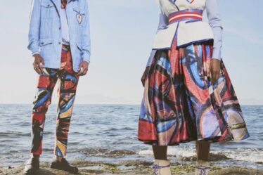
<svg viewBox="0 0 263 175"><path fill-rule="evenodd" d="M172 175L169 160L155 160L153 163L153 175Z"/></svg>

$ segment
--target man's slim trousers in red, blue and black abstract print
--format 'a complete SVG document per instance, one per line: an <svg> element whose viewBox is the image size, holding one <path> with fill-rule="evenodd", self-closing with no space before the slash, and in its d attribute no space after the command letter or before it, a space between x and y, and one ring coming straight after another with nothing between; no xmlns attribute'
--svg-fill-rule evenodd
<svg viewBox="0 0 263 175"><path fill-rule="evenodd" d="M70 48L63 46L60 69L44 68L37 82L37 95L32 110L32 149L34 155L42 153L42 138L46 112L51 104L51 96L56 82L58 88L58 114L56 119L56 143L54 154L65 157L68 145L68 131L75 100L79 76L73 71Z"/></svg>

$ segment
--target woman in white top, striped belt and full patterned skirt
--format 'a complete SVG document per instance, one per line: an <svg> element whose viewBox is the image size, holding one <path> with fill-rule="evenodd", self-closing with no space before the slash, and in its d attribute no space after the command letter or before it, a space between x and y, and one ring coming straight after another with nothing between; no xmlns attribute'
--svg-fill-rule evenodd
<svg viewBox="0 0 263 175"><path fill-rule="evenodd" d="M171 174L167 146L196 141L196 174L207 175L211 142L249 137L221 59L217 1L156 1L160 24L142 77L138 138L153 145L154 174L162 175Z"/></svg>

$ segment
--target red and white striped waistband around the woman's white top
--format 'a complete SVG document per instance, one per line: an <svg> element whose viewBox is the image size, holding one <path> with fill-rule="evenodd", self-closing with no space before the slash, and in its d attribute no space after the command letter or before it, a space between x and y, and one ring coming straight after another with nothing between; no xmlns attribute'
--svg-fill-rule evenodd
<svg viewBox="0 0 263 175"><path fill-rule="evenodd" d="M179 21L186 21L186 20L195 20L195 21L203 20L203 10L190 8L169 14L169 24Z"/></svg>

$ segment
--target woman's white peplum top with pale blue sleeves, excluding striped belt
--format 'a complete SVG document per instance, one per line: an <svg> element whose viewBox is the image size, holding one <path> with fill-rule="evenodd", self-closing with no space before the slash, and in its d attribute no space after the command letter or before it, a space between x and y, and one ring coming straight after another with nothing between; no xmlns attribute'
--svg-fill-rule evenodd
<svg viewBox="0 0 263 175"><path fill-rule="evenodd" d="M214 39L213 58L221 59L222 24L219 18L217 0L155 0L160 6L160 24L155 36L153 49L164 49L172 46L174 36L177 46L186 46L194 42ZM174 22L169 24L168 15L186 9L207 11L209 25L206 22Z"/></svg>

